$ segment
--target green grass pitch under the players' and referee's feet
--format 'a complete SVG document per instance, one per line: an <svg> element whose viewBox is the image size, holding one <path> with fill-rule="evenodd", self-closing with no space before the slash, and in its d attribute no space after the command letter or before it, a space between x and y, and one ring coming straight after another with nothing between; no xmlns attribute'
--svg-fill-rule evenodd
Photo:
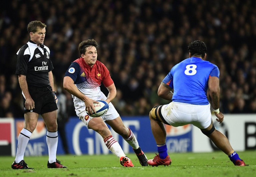
<svg viewBox="0 0 256 177"><path fill-rule="evenodd" d="M223 152L212 153L169 153L170 166L142 167L135 154L127 154L134 167L126 168L120 165L119 159L113 155L58 155L58 160L68 168L48 169L48 156L25 157L25 162L34 170L12 170L14 157L0 156L0 176L101 176L101 177L253 177L256 176L256 151L237 152L249 166L238 167ZM152 159L154 153L146 153Z"/></svg>

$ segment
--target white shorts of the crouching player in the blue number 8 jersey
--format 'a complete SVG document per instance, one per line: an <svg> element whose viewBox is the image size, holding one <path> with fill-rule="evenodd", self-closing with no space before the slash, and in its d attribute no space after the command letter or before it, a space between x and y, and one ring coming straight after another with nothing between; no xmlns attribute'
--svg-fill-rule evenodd
<svg viewBox="0 0 256 177"><path fill-rule="evenodd" d="M163 105L161 113L166 122L174 127L193 124L200 129L205 129L212 121L210 104L194 105L171 102Z"/></svg>

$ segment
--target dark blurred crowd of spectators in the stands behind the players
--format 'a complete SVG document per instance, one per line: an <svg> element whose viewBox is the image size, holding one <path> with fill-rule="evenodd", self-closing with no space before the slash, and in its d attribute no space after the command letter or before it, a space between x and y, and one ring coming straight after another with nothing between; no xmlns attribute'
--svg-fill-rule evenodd
<svg viewBox="0 0 256 177"><path fill-rule="evenodd" d="M167 104L157 89L170 69L202 40L206 60L220 69L220 110L256 113L256 1L251 0L12 0L0 6L0 117L23 117L16 53L29 40L27 24L47 25L55 87L65 117L75 116L63 75L80 57L78 44L94 38L98 60L117 88L120 115L148 115ZM107 90L101 87L104 93Z"/></svg>

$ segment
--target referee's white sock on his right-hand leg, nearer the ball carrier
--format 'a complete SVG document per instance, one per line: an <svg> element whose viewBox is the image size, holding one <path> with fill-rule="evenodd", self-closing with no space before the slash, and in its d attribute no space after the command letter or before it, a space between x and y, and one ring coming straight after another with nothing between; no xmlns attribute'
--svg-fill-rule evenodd
<svg viewBox="0 0 256 177"><path fill-rule="evenodd" d="M56 162L56 152L58 146L58 132L48 132L46 135L46 143L49 152L49 163Z"/></svg>

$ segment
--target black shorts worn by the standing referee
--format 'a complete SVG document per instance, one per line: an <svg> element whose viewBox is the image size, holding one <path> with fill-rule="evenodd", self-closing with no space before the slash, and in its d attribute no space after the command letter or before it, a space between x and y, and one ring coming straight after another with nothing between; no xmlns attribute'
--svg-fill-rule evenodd
<svg viewBox="0 0 256 177"><path fill-rule="evenodd" d="M58 109L51 86L48 86L48 87L28 86L28 91L31 98L35 102L35 108L32 110L26 109L25 107L26 100L23 96L24 113L36 112L38 114L44 114L44 113L52 112Z"/></svg>

